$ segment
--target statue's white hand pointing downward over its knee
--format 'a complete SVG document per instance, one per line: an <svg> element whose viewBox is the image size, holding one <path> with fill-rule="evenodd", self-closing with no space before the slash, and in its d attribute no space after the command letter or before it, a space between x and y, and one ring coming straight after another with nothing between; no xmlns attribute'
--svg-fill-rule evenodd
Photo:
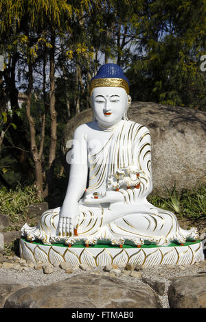
<svg viewBox="0 0 206 322"><path fill-rule="evenodd" d="M60 212L60 219L58 222L59 236L73 236L73 230L76 228L78 212L78 203L69 207L68 212Z"/></svg>

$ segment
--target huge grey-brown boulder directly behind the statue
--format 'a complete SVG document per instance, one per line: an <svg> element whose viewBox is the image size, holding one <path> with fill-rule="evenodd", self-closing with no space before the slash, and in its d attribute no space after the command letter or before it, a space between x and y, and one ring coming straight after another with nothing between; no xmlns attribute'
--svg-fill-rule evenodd
<svg viewBox="0 0 206 322"><path fill-rule="evenodd" d="M91 109L84 110L65 127L62 155L65 162L67 141L82 123L92 121ZM152 137L153 192L164 196L172 190L193 189L206 182L206 112L179 106L135 101L128 119L146 125Z"/></svg>

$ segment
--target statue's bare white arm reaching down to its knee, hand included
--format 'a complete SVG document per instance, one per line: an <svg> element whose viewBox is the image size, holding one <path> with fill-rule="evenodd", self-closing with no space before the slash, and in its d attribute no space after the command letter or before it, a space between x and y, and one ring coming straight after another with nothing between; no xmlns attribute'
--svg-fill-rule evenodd
<svg viewBox="0 0 206 322"><path fill-rule="evenodd" d="M73 147L69 151L70 173L65 200L60 211L59 232L64 236L73 233L79 213L78 201L87 185L87 140L84 126L76 129L73 136Z"/></svg>

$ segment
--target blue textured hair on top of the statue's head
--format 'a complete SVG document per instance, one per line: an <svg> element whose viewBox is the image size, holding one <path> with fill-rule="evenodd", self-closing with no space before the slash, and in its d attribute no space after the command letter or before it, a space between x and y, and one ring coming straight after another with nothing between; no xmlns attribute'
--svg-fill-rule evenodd
<svg viewBox="0 0 206 322"><path fill-rule="evenodd" d="M97 75L95 75L92 79L91 82L93 81L93 79L98 79L98 78L122 78L125 79L128 86L129 81L126 78L126 76L124 75L121 67L119 67L117 64L104 64L100 67Z"/></svg>

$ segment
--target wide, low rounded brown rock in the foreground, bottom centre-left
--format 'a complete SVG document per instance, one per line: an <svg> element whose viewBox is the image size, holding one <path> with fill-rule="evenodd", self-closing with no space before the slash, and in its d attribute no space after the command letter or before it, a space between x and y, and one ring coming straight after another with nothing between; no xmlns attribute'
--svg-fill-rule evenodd
<svg viewBox="0 0 206 322"><path fill-rule="evenodd" d="M161 308L147 285L82 273L47 286L17 290L4 308Z"/></svg>

